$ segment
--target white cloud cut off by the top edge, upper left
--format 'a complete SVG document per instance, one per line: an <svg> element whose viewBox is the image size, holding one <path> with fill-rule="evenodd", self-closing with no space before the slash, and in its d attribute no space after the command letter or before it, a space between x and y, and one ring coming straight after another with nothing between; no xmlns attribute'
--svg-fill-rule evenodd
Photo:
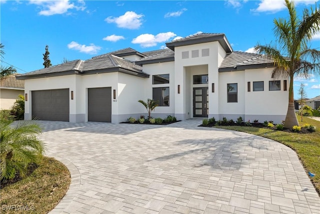
<svg viewBox="0 0 320 214"><path fill-rule="evenodd" d="M84 1L77 1L69 3L68 0L62 1L49 1L49 0L31 0L30 4L38 5L41 7L39 15L51 16L55 14L65 14L69 9L75 9L77 11L85 10ZM74 3L77 3L76 5Z"/></svg>

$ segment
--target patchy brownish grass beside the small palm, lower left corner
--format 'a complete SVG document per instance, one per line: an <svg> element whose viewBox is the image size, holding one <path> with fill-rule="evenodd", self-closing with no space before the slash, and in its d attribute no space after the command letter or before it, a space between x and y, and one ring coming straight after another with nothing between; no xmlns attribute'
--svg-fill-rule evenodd
<svg viewBox="0 0 320 214"><path fill-rule="evenodd" d="M62 199L70 185L66 166L44 157L26 178L0 189L3 213L47 213Z"/></svg>

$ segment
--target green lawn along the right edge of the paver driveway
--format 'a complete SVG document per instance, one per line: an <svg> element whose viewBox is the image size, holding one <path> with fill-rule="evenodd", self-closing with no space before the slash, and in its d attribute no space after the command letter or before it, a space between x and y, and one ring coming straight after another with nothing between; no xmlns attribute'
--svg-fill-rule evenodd
<svg viewBox="0 0 320 214"><path fill-rule="evenodd" d="M305 170L315 174L310 179L320 195L320 121L303 117L303 122L299 121L299 125L303 126L305 123L314 125L316 131L308 134L299 134L246 126L217 126L217 128L242 131L266 137L292 148L297 153Z"/></svg>

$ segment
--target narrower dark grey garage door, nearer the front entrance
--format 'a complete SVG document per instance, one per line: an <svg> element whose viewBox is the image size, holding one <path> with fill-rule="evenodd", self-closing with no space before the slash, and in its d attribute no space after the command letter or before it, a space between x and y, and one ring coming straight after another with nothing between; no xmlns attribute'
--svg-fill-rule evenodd
<svg viewBox="0 0 320 214"><path fill-rule="evenodd" d="M88 88L88 121L111 122L111 87Z"/></svg>

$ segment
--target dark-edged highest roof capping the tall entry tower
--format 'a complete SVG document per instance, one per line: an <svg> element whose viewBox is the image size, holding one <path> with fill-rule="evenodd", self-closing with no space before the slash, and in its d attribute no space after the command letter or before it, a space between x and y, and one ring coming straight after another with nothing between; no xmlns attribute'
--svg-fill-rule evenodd
<svg viewBox="0 0 320 214"><path fill-rule="evenodd" d="M220 45L223 47L225 52L232 52L231 45L227 41L224 34L208 34L208 33L200 33L194 34L188 37L184 37L181 39L173 40L172 42L166 43L166 47L174 51L174 47L185 46L185 45L194 45L199 43L208 43L218 41Z"/></svg>

